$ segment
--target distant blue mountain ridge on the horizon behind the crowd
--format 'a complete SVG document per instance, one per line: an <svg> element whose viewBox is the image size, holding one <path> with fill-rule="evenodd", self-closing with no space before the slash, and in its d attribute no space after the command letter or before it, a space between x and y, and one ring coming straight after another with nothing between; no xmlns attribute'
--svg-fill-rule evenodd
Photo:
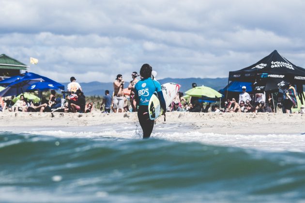
<svg viewBox="0 0 305 203"><path fill-rule="evenodd" d="M164 78L158 80L159 83L165 84L169 82L178 83L181 85L181 92L185 92L188 89L192 88L192 83L196 83L197 86L207 86L211 87L215 90L222 89L228 85L228 78ZM68 83L61 83L62 85L67 88ZM128 82L125 82L124 87L128 87ZM101 83L101 82L90 82L90 83L80 83L84 94L86 96L93 96L93 95L105 95L105 90L108 89L110 93L113 91L113 83Z"/></svg>

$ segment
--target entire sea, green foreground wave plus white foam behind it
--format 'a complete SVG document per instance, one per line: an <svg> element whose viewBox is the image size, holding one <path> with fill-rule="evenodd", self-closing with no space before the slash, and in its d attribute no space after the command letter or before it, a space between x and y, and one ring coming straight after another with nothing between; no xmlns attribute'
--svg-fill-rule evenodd
<svg viewBox="0 0 305 203"><path fill-rule="evenodd" d="M0 202L303 202L304 134L0 127Z"/></svg>

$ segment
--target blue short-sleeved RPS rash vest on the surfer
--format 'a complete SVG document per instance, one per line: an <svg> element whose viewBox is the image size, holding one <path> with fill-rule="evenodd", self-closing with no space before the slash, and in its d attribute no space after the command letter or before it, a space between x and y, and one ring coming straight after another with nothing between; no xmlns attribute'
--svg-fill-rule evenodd
<svg viewBox="0 0 305 203"><path fill-rule="evenodd" d="M135 86L135 90L139 106L148 106L149 100L151 99L154 92L157 92L158 95L161 93L162 99L164 101L160 83L158 81L152 80L152 78L143 78L138 81ZM162 99L160 101L162 101Z"/></svg>

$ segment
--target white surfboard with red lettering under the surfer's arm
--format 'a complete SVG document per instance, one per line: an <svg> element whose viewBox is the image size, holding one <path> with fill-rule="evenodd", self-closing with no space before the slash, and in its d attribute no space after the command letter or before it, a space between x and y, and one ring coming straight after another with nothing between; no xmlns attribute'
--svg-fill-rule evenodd
<svg viewBox="0 0 305 203"><path fill-rule="evenodd" d="M166 83L161 86L163 97L167 107L175 99L177 92L180 90L180 87L181 85L177 83ZM162 115L163 111L166 111L166 109L161 108L160 101L156 92L152 95L149 101L148 109L151 120L157 119Z"/></svg>

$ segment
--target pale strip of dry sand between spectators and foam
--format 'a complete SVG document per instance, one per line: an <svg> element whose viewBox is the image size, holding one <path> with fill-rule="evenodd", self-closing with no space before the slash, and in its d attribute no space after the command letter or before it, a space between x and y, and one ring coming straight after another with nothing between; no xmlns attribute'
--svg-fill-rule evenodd
<svg viewBox="0 0 305 203"><path fill-rule="evenodd" d="M1 112L2 127L77 127L115 124L138 124L137 113L91 114ZM282 113L190 113L172 112L160 117L157 124L189 127L198 132L304 133L305 115Z"/></svg>

